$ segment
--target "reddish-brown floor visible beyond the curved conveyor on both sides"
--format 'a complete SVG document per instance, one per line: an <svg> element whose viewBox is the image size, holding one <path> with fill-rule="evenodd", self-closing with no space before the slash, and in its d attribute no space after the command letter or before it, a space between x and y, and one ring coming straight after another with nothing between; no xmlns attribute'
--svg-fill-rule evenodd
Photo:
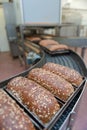
<svg viewBox="0 0 87 130"><path fill-rule="evenodd" d="M74 50L74 48L72 48ZM78 55L81 55L81 49L77 49ZM87 49L85 51L84 62L87 66ZM18 58L12 58L10 52L0 53L0 82L15 76L25 70L25 67L20 64Z"/></svg>

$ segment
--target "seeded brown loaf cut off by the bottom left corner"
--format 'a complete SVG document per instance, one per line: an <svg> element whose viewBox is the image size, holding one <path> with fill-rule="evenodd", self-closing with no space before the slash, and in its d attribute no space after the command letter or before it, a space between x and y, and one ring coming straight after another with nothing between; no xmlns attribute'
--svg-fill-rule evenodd
<svg viewBox="0 0 87 130"><path fill-rule="evenodd" d="M35 130L30 118L0 90L0 130Z"/></svg>

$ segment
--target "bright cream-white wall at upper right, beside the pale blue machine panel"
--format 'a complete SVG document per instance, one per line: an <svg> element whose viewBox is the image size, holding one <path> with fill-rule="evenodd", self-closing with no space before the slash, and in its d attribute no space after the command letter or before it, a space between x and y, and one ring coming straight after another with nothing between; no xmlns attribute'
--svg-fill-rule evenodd
<svg viewBox="0 0 87 130"><path fill-rule="evenodd" d="M62 23L80 25L80 36L87 37L87 0L62 0Z"/></svg>

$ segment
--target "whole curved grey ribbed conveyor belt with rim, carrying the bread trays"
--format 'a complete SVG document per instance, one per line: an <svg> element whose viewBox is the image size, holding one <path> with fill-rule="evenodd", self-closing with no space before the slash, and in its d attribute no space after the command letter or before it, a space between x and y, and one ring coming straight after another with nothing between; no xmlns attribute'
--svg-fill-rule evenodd
<svg viewBox="0 0 87 130"><path fill-rule="evenodd" d="M0 87L3 88L3 86L5 86L12 78L14 78L16 76L20 76L20 75L26 76L32 68L41 67L46 62L54 62L54 63L58 63L58 64L61 64L64 66L68 66L72 69L77 70L81 75L83 75L83 77L87 77L87 68L86 68L83 60L81 59L81 57L79 55L77 55L75 52L70 51L70 53L65 53L65 54L60 54L60 55L58 55L58 54L57 55L50 55L48 53L43 52L42 58L37 64L32 66L30 69L28 69L28 70L26 70L18 75L10 77L9 79L1 82ZM73 100L69 103L69 107L66 106L66 109L62 111L60 118L59 119L55 118L55 121L53 122L54 125L52 124L53 127L48 126L49 129L51 129L50 127L52 127L51 130L59 130L60 129L61 125L63 124L63 122L65 121L65 119L67 118L67 116L69 115L71 110L73 109L79 96L81 95L81 93L83 91L83 87L84 87L84 84L83 84L82 88L80 89L80 91L73 98Z"/></svg>

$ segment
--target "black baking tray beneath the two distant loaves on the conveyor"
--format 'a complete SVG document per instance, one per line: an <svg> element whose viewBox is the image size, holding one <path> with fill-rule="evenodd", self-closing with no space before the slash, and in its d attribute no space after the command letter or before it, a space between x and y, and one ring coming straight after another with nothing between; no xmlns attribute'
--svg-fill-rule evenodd
<svg viewBox="0 0 87 130"><path fill-rule="evenodd" d="M46 53L48 53L50 55L70 53L70 49L61 49L61 50L57 50L57 51L50 51L46 47L43 47L41 45L40 45L40 47L41 47L41 49L43 49Z"/></svg>

